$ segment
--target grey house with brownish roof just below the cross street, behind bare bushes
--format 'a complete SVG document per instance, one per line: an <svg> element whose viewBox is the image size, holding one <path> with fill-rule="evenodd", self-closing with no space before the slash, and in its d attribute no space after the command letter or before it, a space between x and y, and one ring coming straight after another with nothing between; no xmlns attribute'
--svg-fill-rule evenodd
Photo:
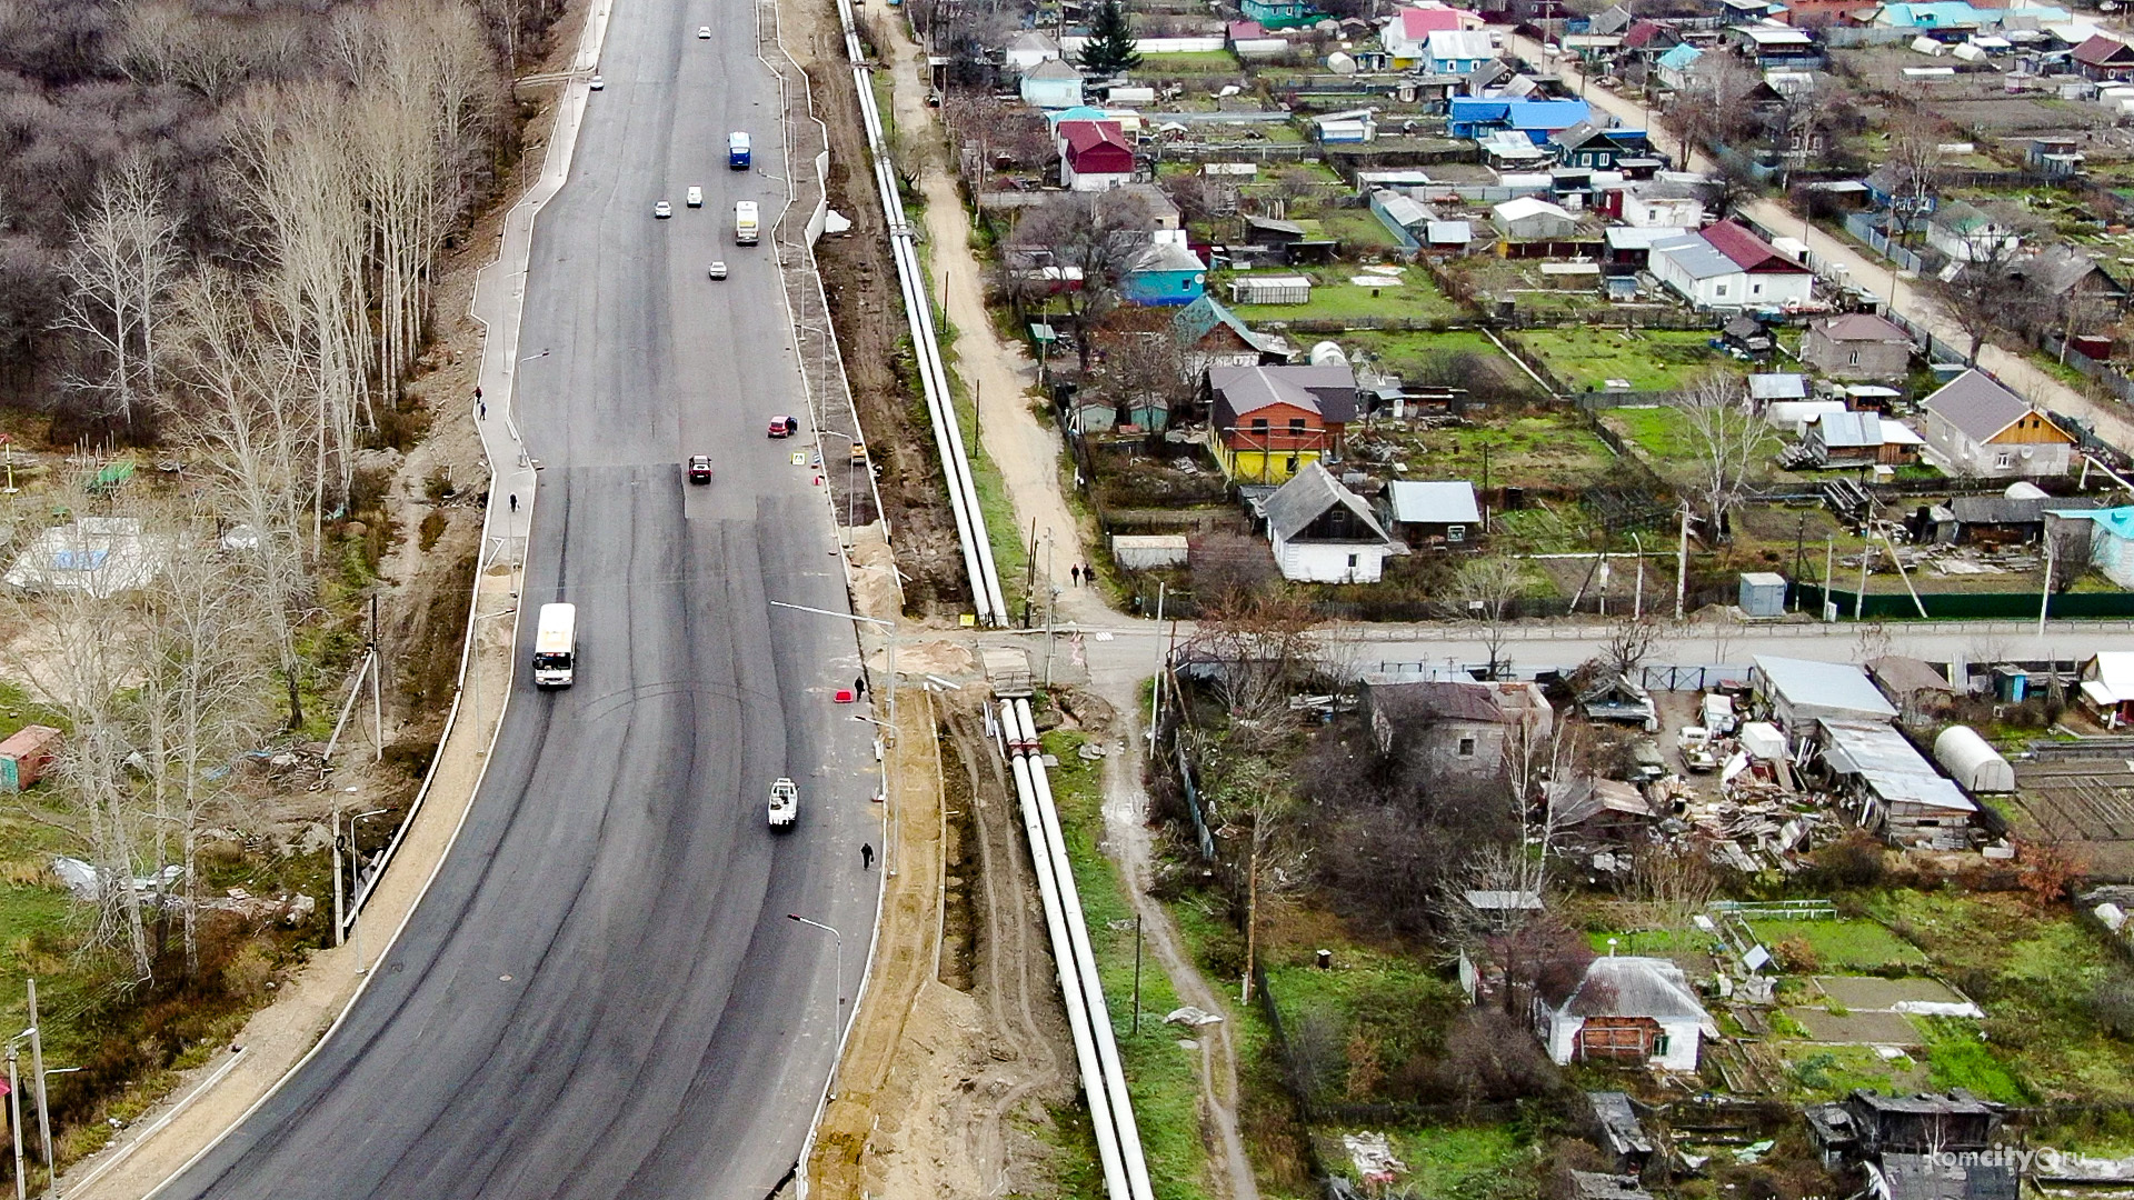
<svg viewBox="0 0 2134 1200"><path fill-rule="evenodd" d="M1507 752L1545 743L1556 728L1539 683L1368 677L1359 692L1381 754L1421 756L1447 775L1494 779Z"/></svg>

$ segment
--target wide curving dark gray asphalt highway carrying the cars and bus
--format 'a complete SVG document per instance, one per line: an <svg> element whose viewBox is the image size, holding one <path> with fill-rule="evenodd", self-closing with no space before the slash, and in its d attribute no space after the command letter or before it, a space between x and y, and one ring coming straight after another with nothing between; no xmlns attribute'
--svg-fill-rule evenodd
<svg viewBox="0 0 2134 1200"><path fill-rule="evenodd" d="M516 683L437 882L341 1029L162 1196L747 1198L792 1170L856 991L879 848L860 670L768 222L777 83L747 11L617 6L542 211L519 421L546 463L523 604L578 606L578 681ZM713 41L696 28L711 23ZM726 169L726 135L755 171ZM683 192L704 188L704 207ZM674 205L653 220L653 201ZM732 241L732 203L764 243ZM732 278L706 280L723 258ZM711 487L681 461L715 455ZM521 664L534 621L521 623ZM766 788L800 781L798 828ZM382 935L382 931L373 933Z"/></svg>

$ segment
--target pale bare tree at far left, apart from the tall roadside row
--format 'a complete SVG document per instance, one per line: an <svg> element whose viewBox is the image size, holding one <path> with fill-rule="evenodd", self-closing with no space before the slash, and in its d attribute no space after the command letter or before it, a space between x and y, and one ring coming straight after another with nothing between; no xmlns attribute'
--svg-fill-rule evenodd
<svg viewBox="0 0 2134 1200"><path fill-rule="evenodd" d="M156 325L177 280L177 222L145 156L128 156L96 181L90 211L73 220L62 260L68 290L58 329L73 333L85 369L66 380L94 397L90 414L132 425L156 395Z"/></svg>

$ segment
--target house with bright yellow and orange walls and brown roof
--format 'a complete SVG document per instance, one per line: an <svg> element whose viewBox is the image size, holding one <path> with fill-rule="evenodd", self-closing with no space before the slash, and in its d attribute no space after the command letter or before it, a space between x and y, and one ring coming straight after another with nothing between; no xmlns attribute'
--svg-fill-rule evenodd
<svg viewBox="0 0 2134 1200"><path fill-rule="evenodd" d="M1210 367L1201 408L1214 453L1236 480L1283 483L1321 455L1338 455L1355 421L1355 372L1347 365Z"/></svg>

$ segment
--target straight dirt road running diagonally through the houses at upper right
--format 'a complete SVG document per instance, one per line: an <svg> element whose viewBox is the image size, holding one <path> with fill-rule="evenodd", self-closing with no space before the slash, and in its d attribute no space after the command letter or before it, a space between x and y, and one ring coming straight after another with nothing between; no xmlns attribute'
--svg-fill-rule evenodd
<svg viewBox="0 0 2134 1200"><path fill-rule="evenodd" d="M1541 51L1541 43L1524 38L1517 34L1504 36L1504 49L1511 49L1526 58L1528 62L1547 62ZM1645 109L1637 100L1618 96L1605 88L1588 83L1577 66L1564 62L1558 66L1562 70L1564 83L1586 96L1596 109L1613 113L1626 126L1645 128L1652 132L1660 130L1658 113ZM1658 141L1658 139L1654 139ZM1690 156L1692 171L1716 171L1716 164L1703 154ZM1891 307L1904 314L1906 320L1927 327L1948 346L1970 346L1970 333L1961 325L1948 318L1933 299L1914 286L1916 280L1904 280L1891 273L1891 263L1884 258L1874 258L1859 250L1857 246L1831 237L1820 228L1810 226L1799 214L1780 205L1778 201L1750 201L1746 205L1750 218L1761 222L1765 228L1778 231L1786 237L1801 237L1807 241L1807 250L1816 263L1840 263L1846 267L1850 278L1869 288L1886 290L1891 295ZM1995 344L1985 344L1978 348L1978 365L1993 372L2004 384L2008 384L2017 395L2051 408L2053 412L2066 412L2089 421L2098 438L2104 438L2121 451L2134 453L2134 414L2128 406L2113 399L2091 399L2081 391L2059 382L2042 367L2032 363L2025 354L2004 350Z"/></svg>

